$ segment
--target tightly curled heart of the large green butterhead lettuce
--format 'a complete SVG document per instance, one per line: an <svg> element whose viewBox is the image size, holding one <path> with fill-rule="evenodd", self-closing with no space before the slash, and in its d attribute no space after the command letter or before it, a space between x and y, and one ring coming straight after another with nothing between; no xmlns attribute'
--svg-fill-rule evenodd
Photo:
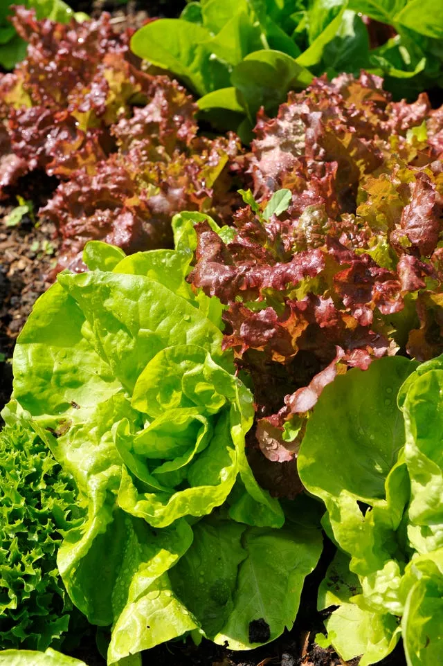
<svg viewBox="0 0 443 666"><path fill-rule="evenodd" d="M138 377L131 400L143 429L136 431L127 419L114 426L125 462L120 506L165 527L222 504L238 471L237 395L248 427L251 394L204 348L177 345L156 354ZM240 429L245 425L240 423Z"/></svg>

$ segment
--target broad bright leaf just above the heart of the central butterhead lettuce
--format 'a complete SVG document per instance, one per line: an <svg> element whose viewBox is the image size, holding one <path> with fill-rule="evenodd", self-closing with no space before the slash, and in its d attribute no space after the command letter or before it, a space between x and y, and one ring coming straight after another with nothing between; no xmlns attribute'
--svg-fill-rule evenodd
<svg viewBox="0 0 443 666"><path fill-rule="evenodd" d="M63 274L58 279L84 313L98 354L129 390L146 363L172 342L208 345L215 359L221 357L221 332L217 327L160 282L145 276L98 271Z"/></svg>

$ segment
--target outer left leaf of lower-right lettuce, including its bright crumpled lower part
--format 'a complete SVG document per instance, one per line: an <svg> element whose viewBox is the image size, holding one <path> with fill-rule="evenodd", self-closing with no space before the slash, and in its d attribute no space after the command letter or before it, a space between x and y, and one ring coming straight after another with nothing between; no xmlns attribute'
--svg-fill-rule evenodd
<svg viewBox="0 0 443 666"><path fill-rule="evenodd" d="M415 367L400 357L385 358L365 372L337 377L318 400L298 456L302 483L325 501L334 538L352 557L366 604L382 614L401 613L403 604L399 586L406 555L395 532L409 483L395 398ZM372 508L363 515L359 503Z"/></svg>

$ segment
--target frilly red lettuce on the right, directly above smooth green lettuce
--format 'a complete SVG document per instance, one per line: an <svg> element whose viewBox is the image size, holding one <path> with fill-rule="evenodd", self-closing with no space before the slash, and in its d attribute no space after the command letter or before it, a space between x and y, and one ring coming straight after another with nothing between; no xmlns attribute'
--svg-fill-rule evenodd
<svg viewBox="0 0 443 666"><path fill-rule="evenodd" d="M336 375L443 352L443 116L382 84L321 78L260 114L231 237L195 226L188 280L226 305L224 346L253 381L257 445L278 467L295 467Z"/></svg>

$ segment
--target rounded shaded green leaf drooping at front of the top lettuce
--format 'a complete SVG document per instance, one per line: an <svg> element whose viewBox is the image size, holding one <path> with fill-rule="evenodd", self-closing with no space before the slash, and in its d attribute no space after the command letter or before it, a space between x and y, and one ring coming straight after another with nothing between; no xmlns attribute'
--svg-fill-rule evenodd
<svg viewBox="0 0 443 666"><path fill-rule="evenodd" d="M254 120L260 106L273 113L289 90L309 85L312 75L286 53L269 50L249 53L233 69L230 80L242 93L249 118Z"/></svg>

